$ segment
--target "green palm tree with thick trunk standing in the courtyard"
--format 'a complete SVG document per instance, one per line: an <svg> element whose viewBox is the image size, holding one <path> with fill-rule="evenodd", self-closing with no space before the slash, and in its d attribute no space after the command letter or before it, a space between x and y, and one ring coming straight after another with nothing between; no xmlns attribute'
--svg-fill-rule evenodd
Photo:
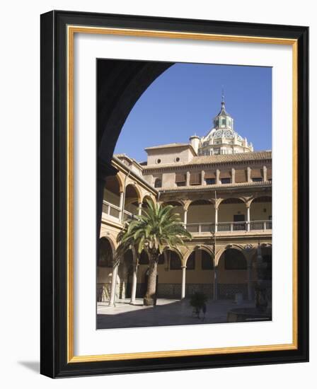
<svg viewBox="0 0 317 389"><path fill-rule="evenodd" d="M180 215L173 212L172 205L161 205L153 199L146 200L147 209L142 216L125 223L124 228L117 236L118 255L134 248L137 255L142 250L149 254L149 278L144 305L153 306L156 294L156 273L159 255L163 249L180 248L185 245L183 239L192 236L181 222Z"/></svg>

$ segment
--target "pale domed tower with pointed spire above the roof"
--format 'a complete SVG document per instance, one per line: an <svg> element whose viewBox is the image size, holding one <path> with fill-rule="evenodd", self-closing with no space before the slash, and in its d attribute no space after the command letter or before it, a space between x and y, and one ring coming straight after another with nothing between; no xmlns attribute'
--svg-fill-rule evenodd
<svg viewBox="0 0 317 389"><path fill-rule="evenodd" d="M212 156L253 151L253 145L234 131L234 119L226 112L224 95L222 95L221 110L214 117L213 124L206 137L200 139L198 155Z"/></svg>

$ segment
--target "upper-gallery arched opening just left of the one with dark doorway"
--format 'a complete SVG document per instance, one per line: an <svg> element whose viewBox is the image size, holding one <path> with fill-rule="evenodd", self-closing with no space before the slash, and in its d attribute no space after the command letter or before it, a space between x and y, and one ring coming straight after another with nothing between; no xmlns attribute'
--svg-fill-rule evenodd
<svg viewBox="0 0 317 389"><path fill-rule="evenodd" d="M187 228L190 233L214 232L214 206L212 202L200 199L190 203Z"/></svg>

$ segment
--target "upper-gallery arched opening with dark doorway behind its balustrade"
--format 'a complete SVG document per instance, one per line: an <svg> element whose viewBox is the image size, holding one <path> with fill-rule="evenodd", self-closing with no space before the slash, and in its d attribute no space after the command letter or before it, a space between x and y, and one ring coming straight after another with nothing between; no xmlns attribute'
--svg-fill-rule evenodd
<svg viewBox="0 0 317 389"><path fill-rule="evenodd" d="M241 199L224 199L220 203L217 230L246 231L246 204Z"/></svg>

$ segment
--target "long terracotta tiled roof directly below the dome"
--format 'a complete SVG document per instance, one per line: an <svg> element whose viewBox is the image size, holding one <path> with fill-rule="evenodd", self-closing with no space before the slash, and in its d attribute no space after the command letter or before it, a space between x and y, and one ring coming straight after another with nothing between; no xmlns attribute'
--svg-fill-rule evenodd
<svg viewBox="0 0 317 389"><path fill-rule="evenodd" d="M219 154L217 156L196 156L190 162L166 163L165 165L148 165L144 169L169 168L178 166L205 165L206 163L248 162L271 159L272 151L250 151L248 153Z"/></svg>

